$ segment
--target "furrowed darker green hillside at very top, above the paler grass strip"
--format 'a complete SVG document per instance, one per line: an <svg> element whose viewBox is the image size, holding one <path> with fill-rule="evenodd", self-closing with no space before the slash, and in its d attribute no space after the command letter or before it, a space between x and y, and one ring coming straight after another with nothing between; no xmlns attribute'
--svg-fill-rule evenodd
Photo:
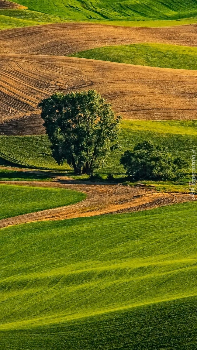
<svg viewBox="0 0 197 350"><path fill-rule="evenodd" d="M18 1L18 0L17 0ZM14 2L17 2L16 0ZM29 10L48 13L69 20L177 20L197 16L195 0L20 0Z"/></svg>

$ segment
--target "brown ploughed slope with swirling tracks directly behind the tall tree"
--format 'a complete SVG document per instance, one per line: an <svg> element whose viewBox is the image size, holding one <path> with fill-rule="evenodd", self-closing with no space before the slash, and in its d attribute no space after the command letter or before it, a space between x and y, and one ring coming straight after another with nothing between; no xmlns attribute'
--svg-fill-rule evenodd
<svg viewBox="0 0 197 350"><path fill-rule="evenodd" d="M197 118L197 71L45 55L0 62L0 134L43 133L36 106L55 91L95 89L124 119Z"/></svg>

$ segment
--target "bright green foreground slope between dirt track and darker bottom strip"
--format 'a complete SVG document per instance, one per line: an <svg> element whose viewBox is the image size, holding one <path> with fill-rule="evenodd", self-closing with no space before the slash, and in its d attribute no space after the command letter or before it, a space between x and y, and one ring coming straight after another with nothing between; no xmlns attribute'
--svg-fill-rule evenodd
<svg viewBox="0 0 197 350"><path fill-rule="evenodd" d="M0 230L0 329L196 295L196 214L193 202Z"/></svg>

